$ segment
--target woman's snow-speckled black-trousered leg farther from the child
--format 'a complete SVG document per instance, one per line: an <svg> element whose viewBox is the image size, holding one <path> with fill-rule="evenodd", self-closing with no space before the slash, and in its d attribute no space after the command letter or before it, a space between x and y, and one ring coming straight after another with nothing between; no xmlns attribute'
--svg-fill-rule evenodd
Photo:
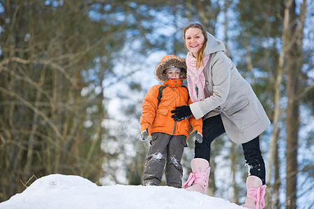
<svg viewBox="0 0 314 209"><path fill-rule="evenodd" d="M260 137L257 136L255 139L242 144L242 148L246 164L248 164L248 176L257 176L265 185L265 163L260 151Z"/></svg>

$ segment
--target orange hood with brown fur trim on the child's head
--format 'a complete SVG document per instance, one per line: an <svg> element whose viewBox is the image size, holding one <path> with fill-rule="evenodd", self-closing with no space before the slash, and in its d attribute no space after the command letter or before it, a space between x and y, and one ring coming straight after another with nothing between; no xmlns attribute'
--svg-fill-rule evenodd
<svg viewBox="0 0 314 209"><path fill-rule="evenodd" d="M180 79L186 79L186 59L180 58L173 54L164 56L160 63L156 66L155 77L159 82L167 82L168 78L165 74L168 68L179 68Z"/></svg>

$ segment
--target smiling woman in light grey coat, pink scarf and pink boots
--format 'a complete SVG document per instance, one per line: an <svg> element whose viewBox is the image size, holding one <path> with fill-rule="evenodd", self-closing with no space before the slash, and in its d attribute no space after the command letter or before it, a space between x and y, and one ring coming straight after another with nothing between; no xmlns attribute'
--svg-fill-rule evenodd
<svg viewBox="0 0 314 209"><path fill-rule="evenodd" d="M193 104L177 107L172 111L172 118L181 121L193 115L204 120L203 142L195 141L193 173L184 188L206 193L211 142L226 133L232 141L242 144L248 164L247 198L242 206L263 208L265 165L259 135L269 126L269 118L250 84L225 55L223 42L196 23L184 29L184 43L189 50L186 65Z"/></svg>

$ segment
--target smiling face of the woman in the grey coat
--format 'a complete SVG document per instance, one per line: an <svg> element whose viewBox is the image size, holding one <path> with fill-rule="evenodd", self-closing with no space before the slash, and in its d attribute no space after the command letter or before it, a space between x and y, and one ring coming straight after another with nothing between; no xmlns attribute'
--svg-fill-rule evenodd
<svg viewBox="0 0 314 209"><path fill-rule="evenodd" d="M194 56L197 55L197 52L203 46L204 41L205 37L201 29L189 28L186 30L185 34L186 48L188 48L188 51L190 51Z"/></svg>

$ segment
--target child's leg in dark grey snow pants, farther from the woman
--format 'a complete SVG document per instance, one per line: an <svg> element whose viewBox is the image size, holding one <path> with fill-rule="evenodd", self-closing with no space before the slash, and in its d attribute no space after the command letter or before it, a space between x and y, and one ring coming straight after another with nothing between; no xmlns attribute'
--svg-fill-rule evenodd
<svg viewBox="0 0 314 209"><path fill-rule="evenodd" d="M143 185L160 185L165 167L165 158L167 157L167 144L170 140L169 134L153 133L151 134L151 144L147 153Z"/></svg>

